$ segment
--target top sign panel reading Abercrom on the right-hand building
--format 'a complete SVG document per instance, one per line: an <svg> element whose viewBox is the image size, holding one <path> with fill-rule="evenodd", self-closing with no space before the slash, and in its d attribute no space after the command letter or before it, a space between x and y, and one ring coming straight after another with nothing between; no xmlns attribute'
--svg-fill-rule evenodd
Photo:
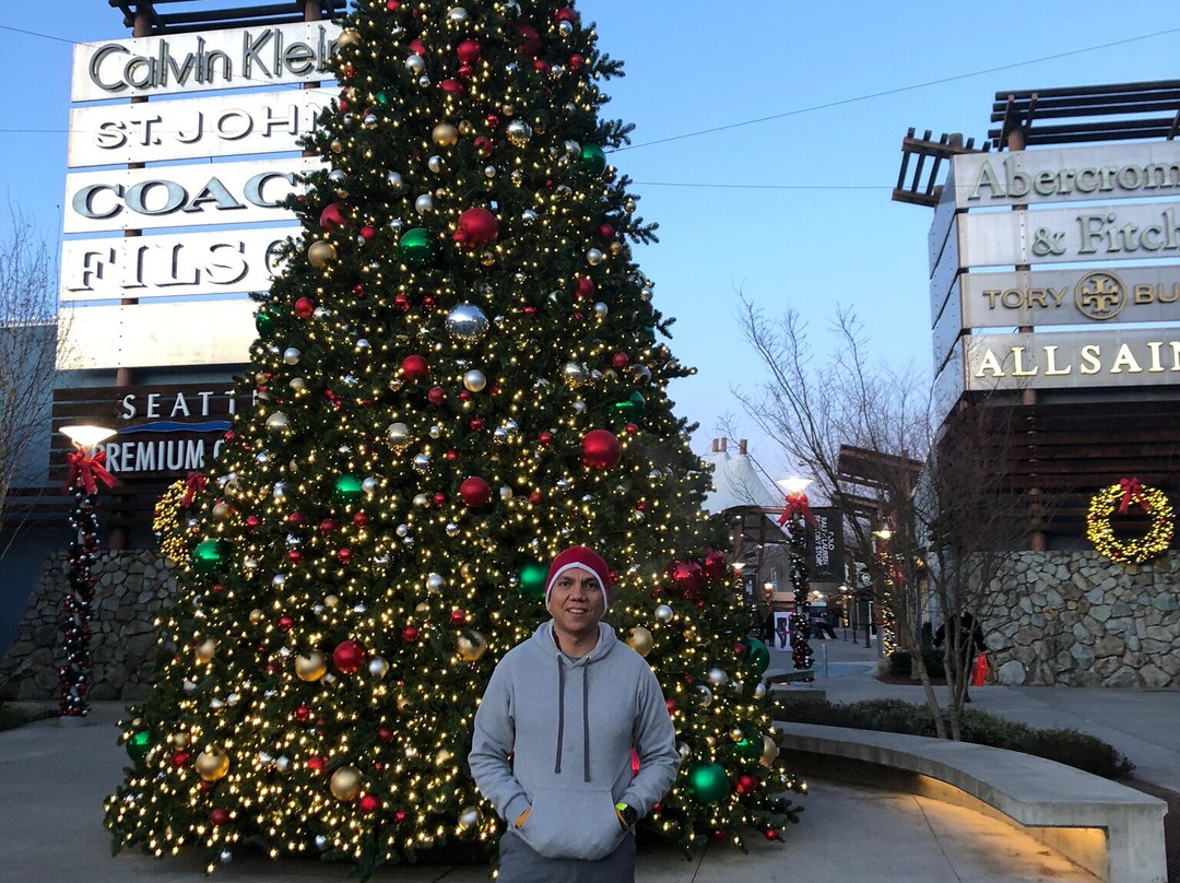
<svg viewBox="0 0 1180 883"><path fill-rule="evenodd" d="M948 190L958 208L1180 196L1180 144L961 153Z"/></svg>

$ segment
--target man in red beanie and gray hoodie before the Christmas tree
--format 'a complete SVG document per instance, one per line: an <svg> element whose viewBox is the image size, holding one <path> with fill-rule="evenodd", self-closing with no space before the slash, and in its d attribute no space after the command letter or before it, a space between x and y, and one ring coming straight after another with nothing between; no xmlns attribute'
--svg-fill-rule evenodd
<svg viewBox="0 0 1180 883"><path fill-rule="evenodd" d="M576 545L553 558L552 619L500 660L476 713L467 763L507 823L500 883L634 881L634 825L676 779L660 682L601 621L609 602L597 552Z"/></svg>

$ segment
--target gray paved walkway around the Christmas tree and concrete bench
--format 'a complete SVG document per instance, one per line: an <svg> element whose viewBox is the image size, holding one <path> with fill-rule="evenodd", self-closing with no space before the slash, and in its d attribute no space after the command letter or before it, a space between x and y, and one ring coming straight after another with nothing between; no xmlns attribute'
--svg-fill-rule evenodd
<svg viewBox="0 0 1180 883"><path fill-rule="evenodd" d="M872 678L876 652L847 641L818 641L814 687L837 701L878 695L920 701L920 688L883 685ZM827 655L826 675L822 669ZM775 652L773 668L789 655ZM772 671L773 671L772 668ZM1180 790L1180 694L984 687L975 707L1028 720L1073 726L1114 743L1139 765L1138 774ZM88 726L40 721L0 733L0 882L67 879L71 883L181 883L206 879L192 855L157 861L138 852L110 855L101 802L120 778L126 756L116 744L117 704L98 704ZM667 849L645 848L640 883L749 883L871 878L874 883L1094 883L1030 837L978 813L911 794L809 784L806 811L786 843L756 835L743 853L710 844L703 857L684 861ZM269 862L238 850L217 877L237 883L347 879L347 868L310 861ZM486 868L393 868L378 881L484 883Z"/></svg>

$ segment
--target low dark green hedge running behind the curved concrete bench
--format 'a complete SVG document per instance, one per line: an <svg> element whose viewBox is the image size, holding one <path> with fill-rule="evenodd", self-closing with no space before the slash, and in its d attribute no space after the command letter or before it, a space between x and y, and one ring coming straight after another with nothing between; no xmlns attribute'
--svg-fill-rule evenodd
<svg viewBox="0 0 1180 883"><path fill-rule="evenodd" d="M827 701L792 702L780 698L775 720L909 735L937 734L927 706L900 699L870 699L838 705ZM963 709L963 741L1035 754L1107 779L1126 778L1135 768L1113 745L1088 733L1076 730L1037 730L1027 724L966 708Z"/></svg>

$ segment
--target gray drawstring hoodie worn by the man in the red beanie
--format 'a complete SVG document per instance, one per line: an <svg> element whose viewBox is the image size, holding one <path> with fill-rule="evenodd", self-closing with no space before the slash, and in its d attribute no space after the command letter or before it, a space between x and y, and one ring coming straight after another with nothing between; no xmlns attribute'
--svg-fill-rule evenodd
<svg viewBox="0 0 1180 883"><path fill-rule="evenodd" d="M533 850L594 861L625 835L616 803L642 818L671 787L676 732L651 667L610 626L598 623L598 643L581 659L557 648L552 629L543 622L496 667L467 763L509 825L532 807L517 832Z"/></svg>

